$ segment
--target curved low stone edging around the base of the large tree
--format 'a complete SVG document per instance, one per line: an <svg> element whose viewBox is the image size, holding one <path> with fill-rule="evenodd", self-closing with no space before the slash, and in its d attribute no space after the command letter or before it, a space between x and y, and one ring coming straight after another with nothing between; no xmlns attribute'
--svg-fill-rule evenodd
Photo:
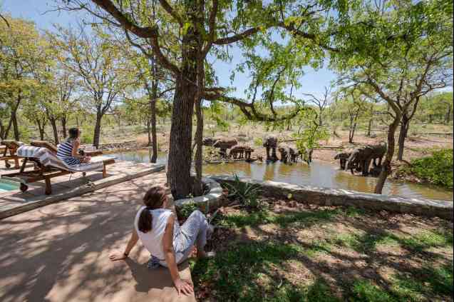
<svg viewBox="0 0 454 302"><path fill-rule="evenodd" d="M175 201L175 206L178 208L186 203L195 203L205 213L222 206L222 187L220 184L206 177L202 177L202 182L210 186L210 193L193 198L178 199Z"/></svg>

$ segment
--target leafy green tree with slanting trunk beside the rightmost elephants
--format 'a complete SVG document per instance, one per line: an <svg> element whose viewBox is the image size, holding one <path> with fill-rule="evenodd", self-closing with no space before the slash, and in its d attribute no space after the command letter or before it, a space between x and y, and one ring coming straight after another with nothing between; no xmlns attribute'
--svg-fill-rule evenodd
<svg viewBox="0 0 454 302"><path fill-rule="evenodd" d="M419 100L452 81L452 1L383 1L363 3L343 19L336 35L342 51L333 54L333 66L344 84L367 96L378 96L391 108L388 151L375 193L381 193L391 173L399 124L403 139ZM371 92L373 91L373 96Z"/></svg>

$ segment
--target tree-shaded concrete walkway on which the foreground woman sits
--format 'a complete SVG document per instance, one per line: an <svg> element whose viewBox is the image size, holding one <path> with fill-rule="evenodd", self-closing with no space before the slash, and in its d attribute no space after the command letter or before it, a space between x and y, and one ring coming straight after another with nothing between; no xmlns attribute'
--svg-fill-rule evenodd
<svg viewBox="0 0 454 302"><path fill-rule="evenodd" d="M138 243L123 252L147 188L165 173L119 183L0 221L0 301L195 301L178 298L167 269L149 270ZM180 266L190 278L187 263Z"/></svg>

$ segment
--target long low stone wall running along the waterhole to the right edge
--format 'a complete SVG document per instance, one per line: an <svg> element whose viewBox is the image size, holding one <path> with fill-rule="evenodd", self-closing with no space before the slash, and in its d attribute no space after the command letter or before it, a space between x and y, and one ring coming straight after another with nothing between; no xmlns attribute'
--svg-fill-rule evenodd
<svg viewBox="0 0 454 302"><path fill-rule="evenodd" d="M218 183L233 183L232 176L212 176ZM440 217L453 221L453 201L435 201L422 198L403 198L372 193L362 193L339 188L299 186L276 181L254 181L241 178L243 182L255 183L262 187L262 195L287 199L289 194L295 201L321 206L356 206L376 211L411 213L419 216Z"/></svg>

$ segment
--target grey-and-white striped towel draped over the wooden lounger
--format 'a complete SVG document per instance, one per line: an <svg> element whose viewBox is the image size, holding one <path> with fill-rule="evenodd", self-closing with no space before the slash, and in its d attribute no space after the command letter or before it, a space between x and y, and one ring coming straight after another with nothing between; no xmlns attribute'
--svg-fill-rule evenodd
<svg viewBox="0 0 454 302"><path fill-rule="evenodd" d="M99 156L91 163L81 163L78 165L68 166L48 149L33 146L21 146L17 149L17 156L37 158L44 166L52 166L54 168L60 168L71 172L103 171L103 161L110 159L105 158L104 156Z"/></svg>

